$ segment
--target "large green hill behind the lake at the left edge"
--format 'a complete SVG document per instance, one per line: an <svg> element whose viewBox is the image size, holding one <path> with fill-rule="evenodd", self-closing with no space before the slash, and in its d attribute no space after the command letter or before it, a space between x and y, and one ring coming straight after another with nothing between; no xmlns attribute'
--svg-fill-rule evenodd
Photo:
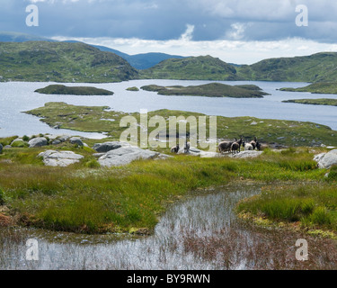
<svg viewBox="0 0 337 288"><path fill-rule="evenodd" d="M120 82L138 72L120 56L84 43L0 42L0 81Z"/></svg>

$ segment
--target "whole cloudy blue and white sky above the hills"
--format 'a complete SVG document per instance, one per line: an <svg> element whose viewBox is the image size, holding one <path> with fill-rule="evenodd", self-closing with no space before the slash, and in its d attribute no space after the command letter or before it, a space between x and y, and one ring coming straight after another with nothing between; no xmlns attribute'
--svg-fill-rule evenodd
<svg viewBox="0 0 337 288"><path fill-rule="evenodd" d="M84 40L129 54L211 55L226 62L337 51L334 0L0 0L0 31ZM39 8L39 27L25 23ZM309 25L296 25L298 4Z"/></svg>

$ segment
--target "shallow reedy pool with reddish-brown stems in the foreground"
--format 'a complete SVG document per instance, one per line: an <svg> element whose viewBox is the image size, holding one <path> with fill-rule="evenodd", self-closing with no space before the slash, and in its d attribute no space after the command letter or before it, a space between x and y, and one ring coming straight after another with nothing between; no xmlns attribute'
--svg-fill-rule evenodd
<svg viewBox="0 0 337 288"><path fill-rule="evenodd" d="M333 268L332 241L237 220L240 199L260 193L256 185L226 186L171 207L144 238L88 236L29 229L0 230L0 269L278 269ZM295 259L297 238L309 242L310 261ZM25 242L39 240L40 260L25 260Z"/></svg>

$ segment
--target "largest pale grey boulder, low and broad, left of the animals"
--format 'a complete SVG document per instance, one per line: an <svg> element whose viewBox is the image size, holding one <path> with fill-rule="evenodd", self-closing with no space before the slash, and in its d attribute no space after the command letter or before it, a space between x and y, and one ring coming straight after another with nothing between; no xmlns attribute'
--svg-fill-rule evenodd
<svg viewBox="0 0 337 288"><path fill-rule="evenodd" d="M98 159L98 162L101 166L124 166L137 159L155 159L156 157L163 158L163 155L155 151L129 146L107 152Z"/></svg>

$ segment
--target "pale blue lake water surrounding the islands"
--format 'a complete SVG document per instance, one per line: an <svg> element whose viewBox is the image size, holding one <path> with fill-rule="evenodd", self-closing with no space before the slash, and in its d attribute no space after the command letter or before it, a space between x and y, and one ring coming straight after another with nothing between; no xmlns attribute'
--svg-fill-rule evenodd
<svg viewBox="0 0 337 288"><path fill-rule="evenodd" d="M259 81L217 81L228 85L253 84L271 94L264 98L236 99L210 98L199 96L164 96L155 92L140 90L126 91L128 87L142 85L201 85L215 81L185 80L132 80L111 84L66 84L90 85L113 91L113 96L47 95L34 91L54 83L8 82L0 83L0 137L12 135L32 135L39 133L72 134L88 138L101 139L100 133L84 133L71 130L54 130L39 121L38 117L22 113L38 108L47 102L65 102L75 105L109 106L122 112L139 112L140 109L155 111L159 109L202 112L209 115L226 117L252 116L264 119L313 121L337 130L337 107L281 103L288 99L334 98L334 94L310 94L282 92L282 87L302 87L307 83L259 82Z"/></svg>

